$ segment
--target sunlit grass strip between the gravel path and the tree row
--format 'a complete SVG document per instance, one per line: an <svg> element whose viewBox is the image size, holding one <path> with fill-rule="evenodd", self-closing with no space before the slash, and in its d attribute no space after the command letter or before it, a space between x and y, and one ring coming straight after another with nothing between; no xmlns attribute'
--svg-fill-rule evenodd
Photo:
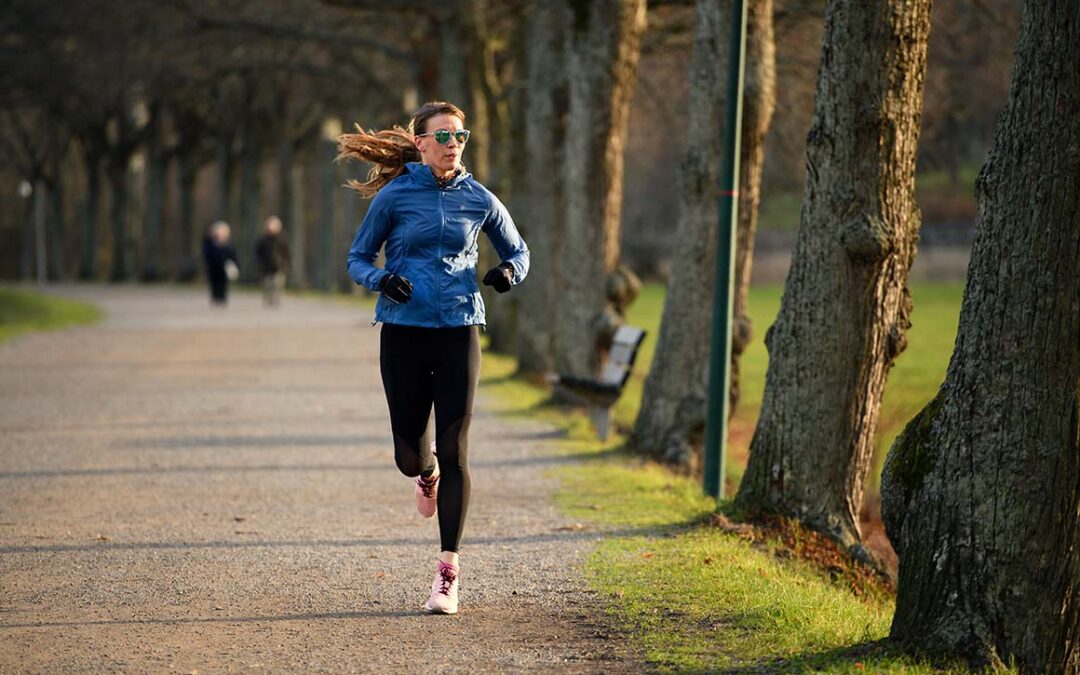
<svg viewBox="0 0 1080 675"><path fill-rule="evenodd" d="M585 564L590 586L649 663L662 672L950 673L885 640L885 592L852 591L843 573L801 559L789 539L718 527L697 482L595 441L583 415L545 405L548 391L514 376L513 359L485 354L482 387L504 415L564 430L558 451L582 460L553 470L575 528L606 537ZM798 537L796 530L795 536Z"/></svg>

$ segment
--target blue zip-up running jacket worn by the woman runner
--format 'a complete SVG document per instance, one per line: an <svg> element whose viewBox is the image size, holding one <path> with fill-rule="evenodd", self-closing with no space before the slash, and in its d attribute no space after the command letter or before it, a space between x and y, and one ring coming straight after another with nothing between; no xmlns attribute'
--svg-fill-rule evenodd
<svg viewBox="0 0 1080 675"><path fill-rule="evenodd" d="M444 328L485 324L484 300L476 282L476 244L481 230L502 262L514 268L512 284L529 271L529 249L495 194L461 172L440 188L431 170L405 165L372 200L349 249L349 276L379 291L390 272L413 283L413 297L399 305L380 295L375 321ZM386 243L386 269L375 267Z"/></svg>

